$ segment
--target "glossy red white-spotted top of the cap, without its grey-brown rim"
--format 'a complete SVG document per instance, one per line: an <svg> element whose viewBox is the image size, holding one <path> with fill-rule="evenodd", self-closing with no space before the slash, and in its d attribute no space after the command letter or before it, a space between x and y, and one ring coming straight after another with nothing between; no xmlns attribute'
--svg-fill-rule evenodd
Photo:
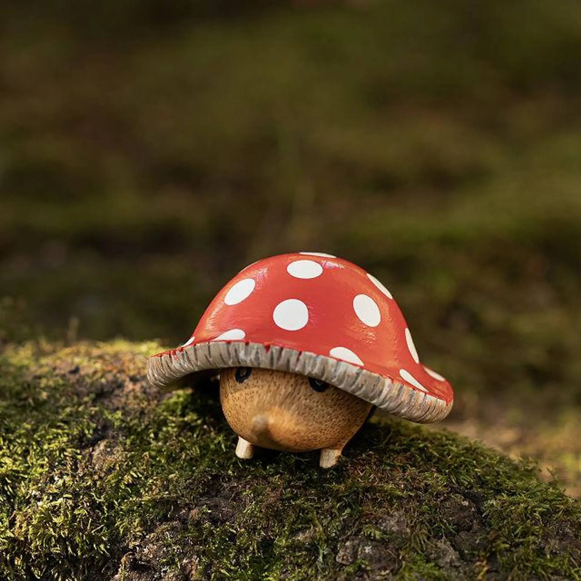
<svg viewBox="0 0 581 581"><path fill-rule="evenodd" d="M329 255L281 254L244 268L218 292L185 346L215 340L334 357L453 400L450 383L420 363L389 290Z"/></svg>

